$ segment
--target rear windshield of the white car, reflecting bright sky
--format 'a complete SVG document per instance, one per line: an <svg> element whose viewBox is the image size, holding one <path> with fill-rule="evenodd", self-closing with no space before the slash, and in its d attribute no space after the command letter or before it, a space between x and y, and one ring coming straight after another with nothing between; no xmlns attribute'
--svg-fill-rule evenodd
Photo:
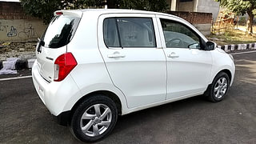
<svg viewBox="0 0 256 144"><path fill-rule="evenodd" d="M66 46L73 38L79 21L80 18L69 15L54 17L42 34L41 40L45 43L44 46L48 48Z"/></svg>

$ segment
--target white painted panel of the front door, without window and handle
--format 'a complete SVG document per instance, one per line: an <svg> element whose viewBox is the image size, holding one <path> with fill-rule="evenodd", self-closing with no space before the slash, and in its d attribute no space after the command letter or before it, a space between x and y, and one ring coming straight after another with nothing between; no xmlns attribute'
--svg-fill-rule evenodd
<svg viewBox="0 0 256 144"><path fill-rule="evenodd" d="M184 23L180 18L158 15L157 18L181 22L198 33L190 23ZM212 69L212 55L210 51L189 48L166 48L166 42L158 19L159 32L161 34L163 48L166 54L167 65L167 96L166 99L182 96L194 96L203 94L210 82ZM200 33L198 34L200 35ZM178 58L169 58L170 54L176 54Z"/></svg>

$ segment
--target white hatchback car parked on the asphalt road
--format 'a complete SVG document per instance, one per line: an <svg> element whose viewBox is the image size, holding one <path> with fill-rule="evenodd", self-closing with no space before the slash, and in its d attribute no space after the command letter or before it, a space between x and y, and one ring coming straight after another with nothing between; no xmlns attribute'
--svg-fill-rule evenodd
<svg viewBox="0 0 256 144"><path fill-rule="evenodd" d="M118 115L206 95L221 101L234 60L182 18L141 10L59 10L38 39L42 102L75 137L110 134Z"/></svg>

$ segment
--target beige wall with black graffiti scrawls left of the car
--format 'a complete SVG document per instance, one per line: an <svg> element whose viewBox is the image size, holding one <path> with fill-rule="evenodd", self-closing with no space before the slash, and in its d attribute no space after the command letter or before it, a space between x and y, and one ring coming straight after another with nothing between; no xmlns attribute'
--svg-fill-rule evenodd
<svg viewBox="0 0 256 144"><path fill-rule="evenodd" d="M2 25L0 22L0 32L5 33L6 37L18 38L37 38L38 34L32 24L28 24L24 29L18 30L15 26Z"/></svg>

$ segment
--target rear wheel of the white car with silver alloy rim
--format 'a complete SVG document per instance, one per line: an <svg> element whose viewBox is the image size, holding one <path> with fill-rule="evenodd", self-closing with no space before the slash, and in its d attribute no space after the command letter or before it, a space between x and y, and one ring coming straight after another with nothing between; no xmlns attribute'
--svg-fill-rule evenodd
<svg viewBox="0 0 256 144"><path fill-rule="evenodd" d="M82 142L96 142L110 134L117 118L118 110L112 99L93 95L74 111L70 130Z"/></svg>

